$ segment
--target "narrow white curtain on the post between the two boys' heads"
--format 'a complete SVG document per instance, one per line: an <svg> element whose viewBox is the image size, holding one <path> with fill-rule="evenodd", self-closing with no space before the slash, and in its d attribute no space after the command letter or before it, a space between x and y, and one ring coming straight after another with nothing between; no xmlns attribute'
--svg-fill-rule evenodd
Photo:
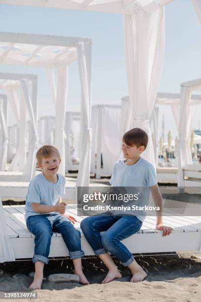
<svg viewBox="0 0 201 302"><path fill-rule="evenodd" d="M81 82L81 156L76 187L88 187L91 163L91 43L76 43Z"/></svg>

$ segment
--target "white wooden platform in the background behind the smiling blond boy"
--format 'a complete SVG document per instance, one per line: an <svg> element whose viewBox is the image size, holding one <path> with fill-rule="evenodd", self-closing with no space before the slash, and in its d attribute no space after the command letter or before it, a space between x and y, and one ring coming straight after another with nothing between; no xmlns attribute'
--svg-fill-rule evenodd
<svg viewBox="0 0 201 302"><path fill-rule="evenodd" d="M66 195L63 199L74 199L76 179L66 177ZM0 181L0 196L5 198L24 198L28 192L29 182ZM91 187L102 187L102 184L90 182ZM106 186L106 185L104 185Z"/></svg>

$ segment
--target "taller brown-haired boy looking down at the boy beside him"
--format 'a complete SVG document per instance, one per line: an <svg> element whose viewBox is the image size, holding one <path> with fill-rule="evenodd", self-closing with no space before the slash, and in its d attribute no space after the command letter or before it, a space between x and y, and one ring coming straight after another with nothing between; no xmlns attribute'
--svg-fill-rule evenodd
<svg viewBox="0 0 201 302"><path fill-rule="evenodd" d="M152 164L140 157L147 143L148 135L140 128L134 128L124 134L122 145L124 158L115 163L110 184L114 187L150 187L153 200L161 209L160 216L157 216L156 228L162 230L163 236L166 236L170 234L172 228L163 225L162 196L156 173ZM146 278L147 273L136 263L132 253L121 242L136 233L144 219L145 216L136 214L135 216L96 215L82 220L81 229L87 241L108 268L102 283L122 277L108 252L131 269L133 275L131 282L139 282ZM105 231L102 236L101 231Z"/></svg>

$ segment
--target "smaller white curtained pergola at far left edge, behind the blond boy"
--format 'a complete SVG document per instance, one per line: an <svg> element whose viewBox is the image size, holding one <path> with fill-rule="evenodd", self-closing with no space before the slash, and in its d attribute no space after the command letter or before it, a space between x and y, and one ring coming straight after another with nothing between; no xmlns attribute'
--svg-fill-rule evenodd
<svg viewBox="0 0 201 302"><path fill-rule="evenodd" d="M2 46L2 44L0 45ZM2 46L4 47L4 46ZM5 46L6 47L6 46ZM4 48L3 48L4 49ZM6 58L3 50L0 62ZM0 51L2 52L2 50ZM10 164L9 171L23 171L21 181L30 181L35 176L35 152L37 148L37 76L25 74L0 73L0 89L6 92L16 122L19 127L19 142L16 154ZM32 146L28 158L26 154L26 127L28 113L32 124ZM7 135L6 135L7 136ZM5 170L3 166L1 171Z"/></svg>

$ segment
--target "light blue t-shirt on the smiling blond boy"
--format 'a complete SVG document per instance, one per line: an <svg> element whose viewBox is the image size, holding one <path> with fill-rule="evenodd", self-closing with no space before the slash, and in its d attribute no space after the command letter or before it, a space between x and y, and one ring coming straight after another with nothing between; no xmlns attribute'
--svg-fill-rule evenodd
<svg viewBox="0 0 201 302"><path fill-rule="evenodd" d="M44 214L34 212L32 210L32 202L44 205L55 205L59 197L65 195L66 179L61 174L57 174L57 176L58 181L55 184L49 182L42 173L33 178L29 184L28 193L26 195L25 220L27 220L29 216Z"/></svg>

